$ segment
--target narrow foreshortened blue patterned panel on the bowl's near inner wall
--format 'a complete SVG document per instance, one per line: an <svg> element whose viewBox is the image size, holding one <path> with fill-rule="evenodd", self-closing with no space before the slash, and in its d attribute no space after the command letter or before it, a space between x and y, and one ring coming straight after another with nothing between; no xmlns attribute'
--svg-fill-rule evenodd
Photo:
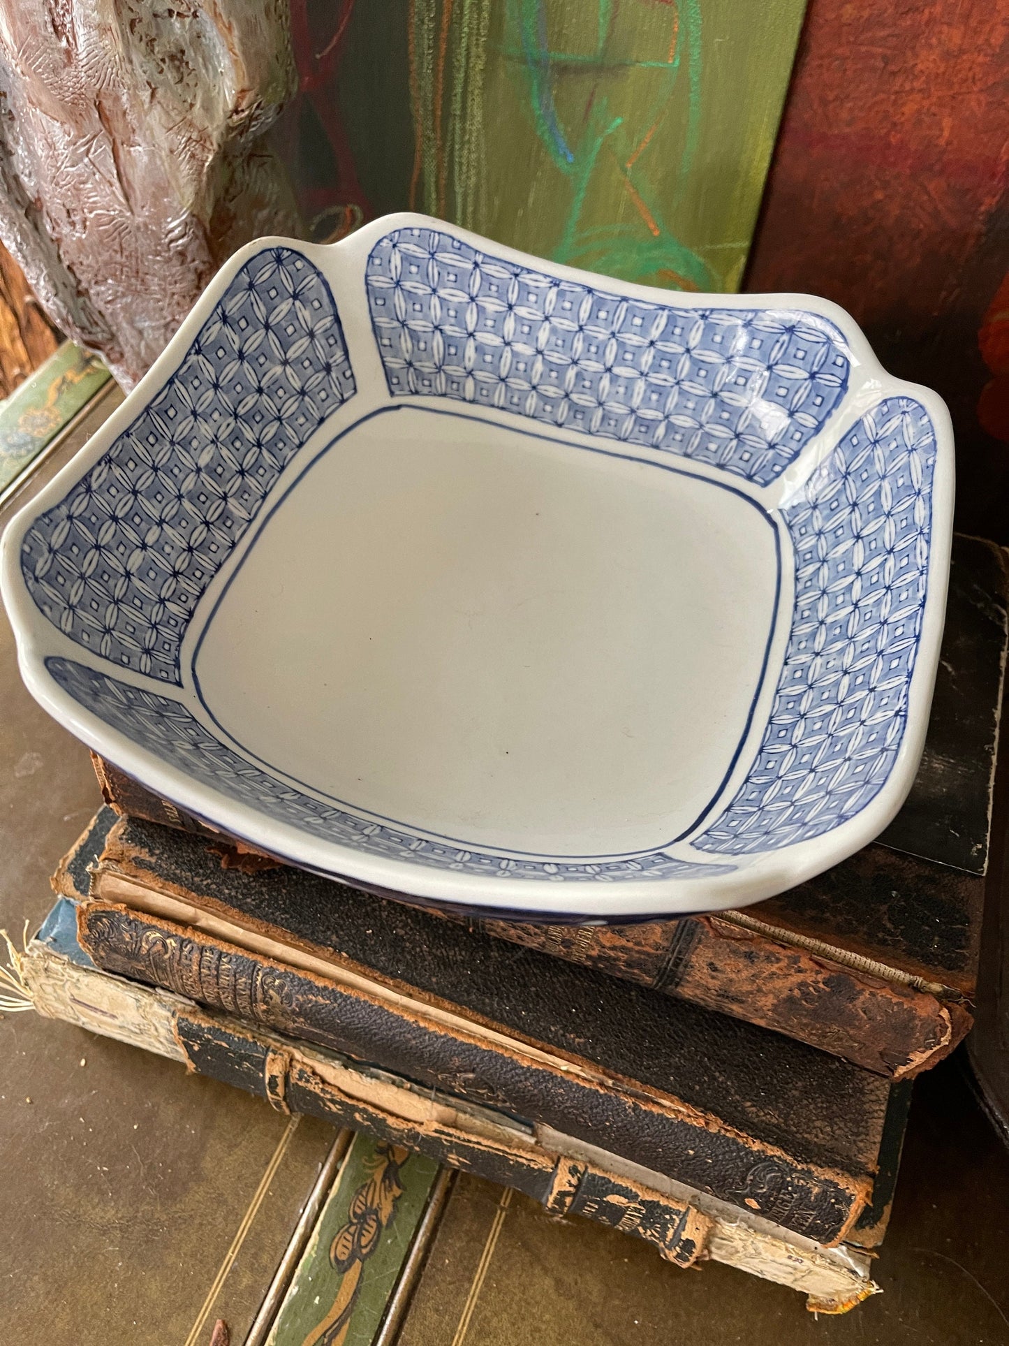
<svg viewBox="0 0 1009 1346"><path fill-rule="evenodd" d="M129 686L71 660L48 658L46 668L75 701L194 781L324 841L350 845L355 851L492 879L612 883L622 879L708 878L732 874L736 868L733 864L677 860L662 852L635 860L591 864L513 860L480 855L445 841L426 841L402 828L357 818L284 785L219 743L186 707L170 697Z"/></svg>

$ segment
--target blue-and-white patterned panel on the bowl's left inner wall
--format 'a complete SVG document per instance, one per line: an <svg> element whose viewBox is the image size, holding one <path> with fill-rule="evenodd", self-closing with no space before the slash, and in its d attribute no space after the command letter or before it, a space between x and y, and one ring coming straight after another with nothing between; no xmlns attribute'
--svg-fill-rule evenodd
<svg viewBox="0 0 1009 1346"><path fill-rule="evenodd" d="M26 534L38 607L94 654L179 682L200 595L284 467L352 393L322 273L289 248L257 253L164 388Z"/></svg>

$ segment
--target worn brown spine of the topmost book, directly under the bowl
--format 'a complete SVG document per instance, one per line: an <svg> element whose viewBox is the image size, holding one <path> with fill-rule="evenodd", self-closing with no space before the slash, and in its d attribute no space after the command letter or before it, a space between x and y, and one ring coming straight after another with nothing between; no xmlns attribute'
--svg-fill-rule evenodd
<svg viewBox="0 0 1009 1346"><path fill-rule="evenodd" d="M106 804L223 845L230 839L94 756ZM270 864L231 843L231 863ZM441 914L441 913L437 913ZM465 919L465 918L448 918ZM467 925L708 1010L774 1028L892 1079L936 1065L970 1028L970 1014L942 988L873 960L775 930L744 913L632 926L544 926L467 919ZM939 993L936 993L936 991Z"/></svg>

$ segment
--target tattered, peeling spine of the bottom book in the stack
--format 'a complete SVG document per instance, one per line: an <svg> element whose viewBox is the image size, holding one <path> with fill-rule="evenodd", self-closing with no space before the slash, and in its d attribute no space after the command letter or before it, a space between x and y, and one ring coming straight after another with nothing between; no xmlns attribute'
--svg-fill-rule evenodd
<svg viewBox="0 0 1009 1346"><path fill-rule="evenodd" d="M59 915L57 925L67 925ZM50 917L47 925L54 923ZM26 992L39 1014L79 1024L179 1061L336 1127L365 1131L420 1151L439 1163L517 1187L558 1215L581 1214L635 1234L681 1267L721 1261L809 1296L819 1312L844 1312L879 1287L869 1257L854 1248L823 1248L701 1193L670 1191L605 1163L580 1156L576 1143L548 1148L529 1128L487 1109L418 1090L385 1071L358 1066L304 1042L233 1016L199 1010L164 989L82 965L73 934L43 942L46 929L19 957ZM69 944L73 957L58 952ZM54 948L55 945L55 948ZM619 1166L616 1156L608 1156Z"/></svg>

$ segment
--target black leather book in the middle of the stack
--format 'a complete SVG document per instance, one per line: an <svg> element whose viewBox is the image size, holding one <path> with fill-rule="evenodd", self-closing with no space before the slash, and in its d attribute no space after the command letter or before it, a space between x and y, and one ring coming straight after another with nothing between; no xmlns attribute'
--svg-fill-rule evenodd
<svg viewBox="0 0 1009 1346"><path fill-rule="evenodd" d="M564 1132L821 1244L869 1210L884 1077L420 909L226 860L106 809L57 883L106 972Z"/></svg>

